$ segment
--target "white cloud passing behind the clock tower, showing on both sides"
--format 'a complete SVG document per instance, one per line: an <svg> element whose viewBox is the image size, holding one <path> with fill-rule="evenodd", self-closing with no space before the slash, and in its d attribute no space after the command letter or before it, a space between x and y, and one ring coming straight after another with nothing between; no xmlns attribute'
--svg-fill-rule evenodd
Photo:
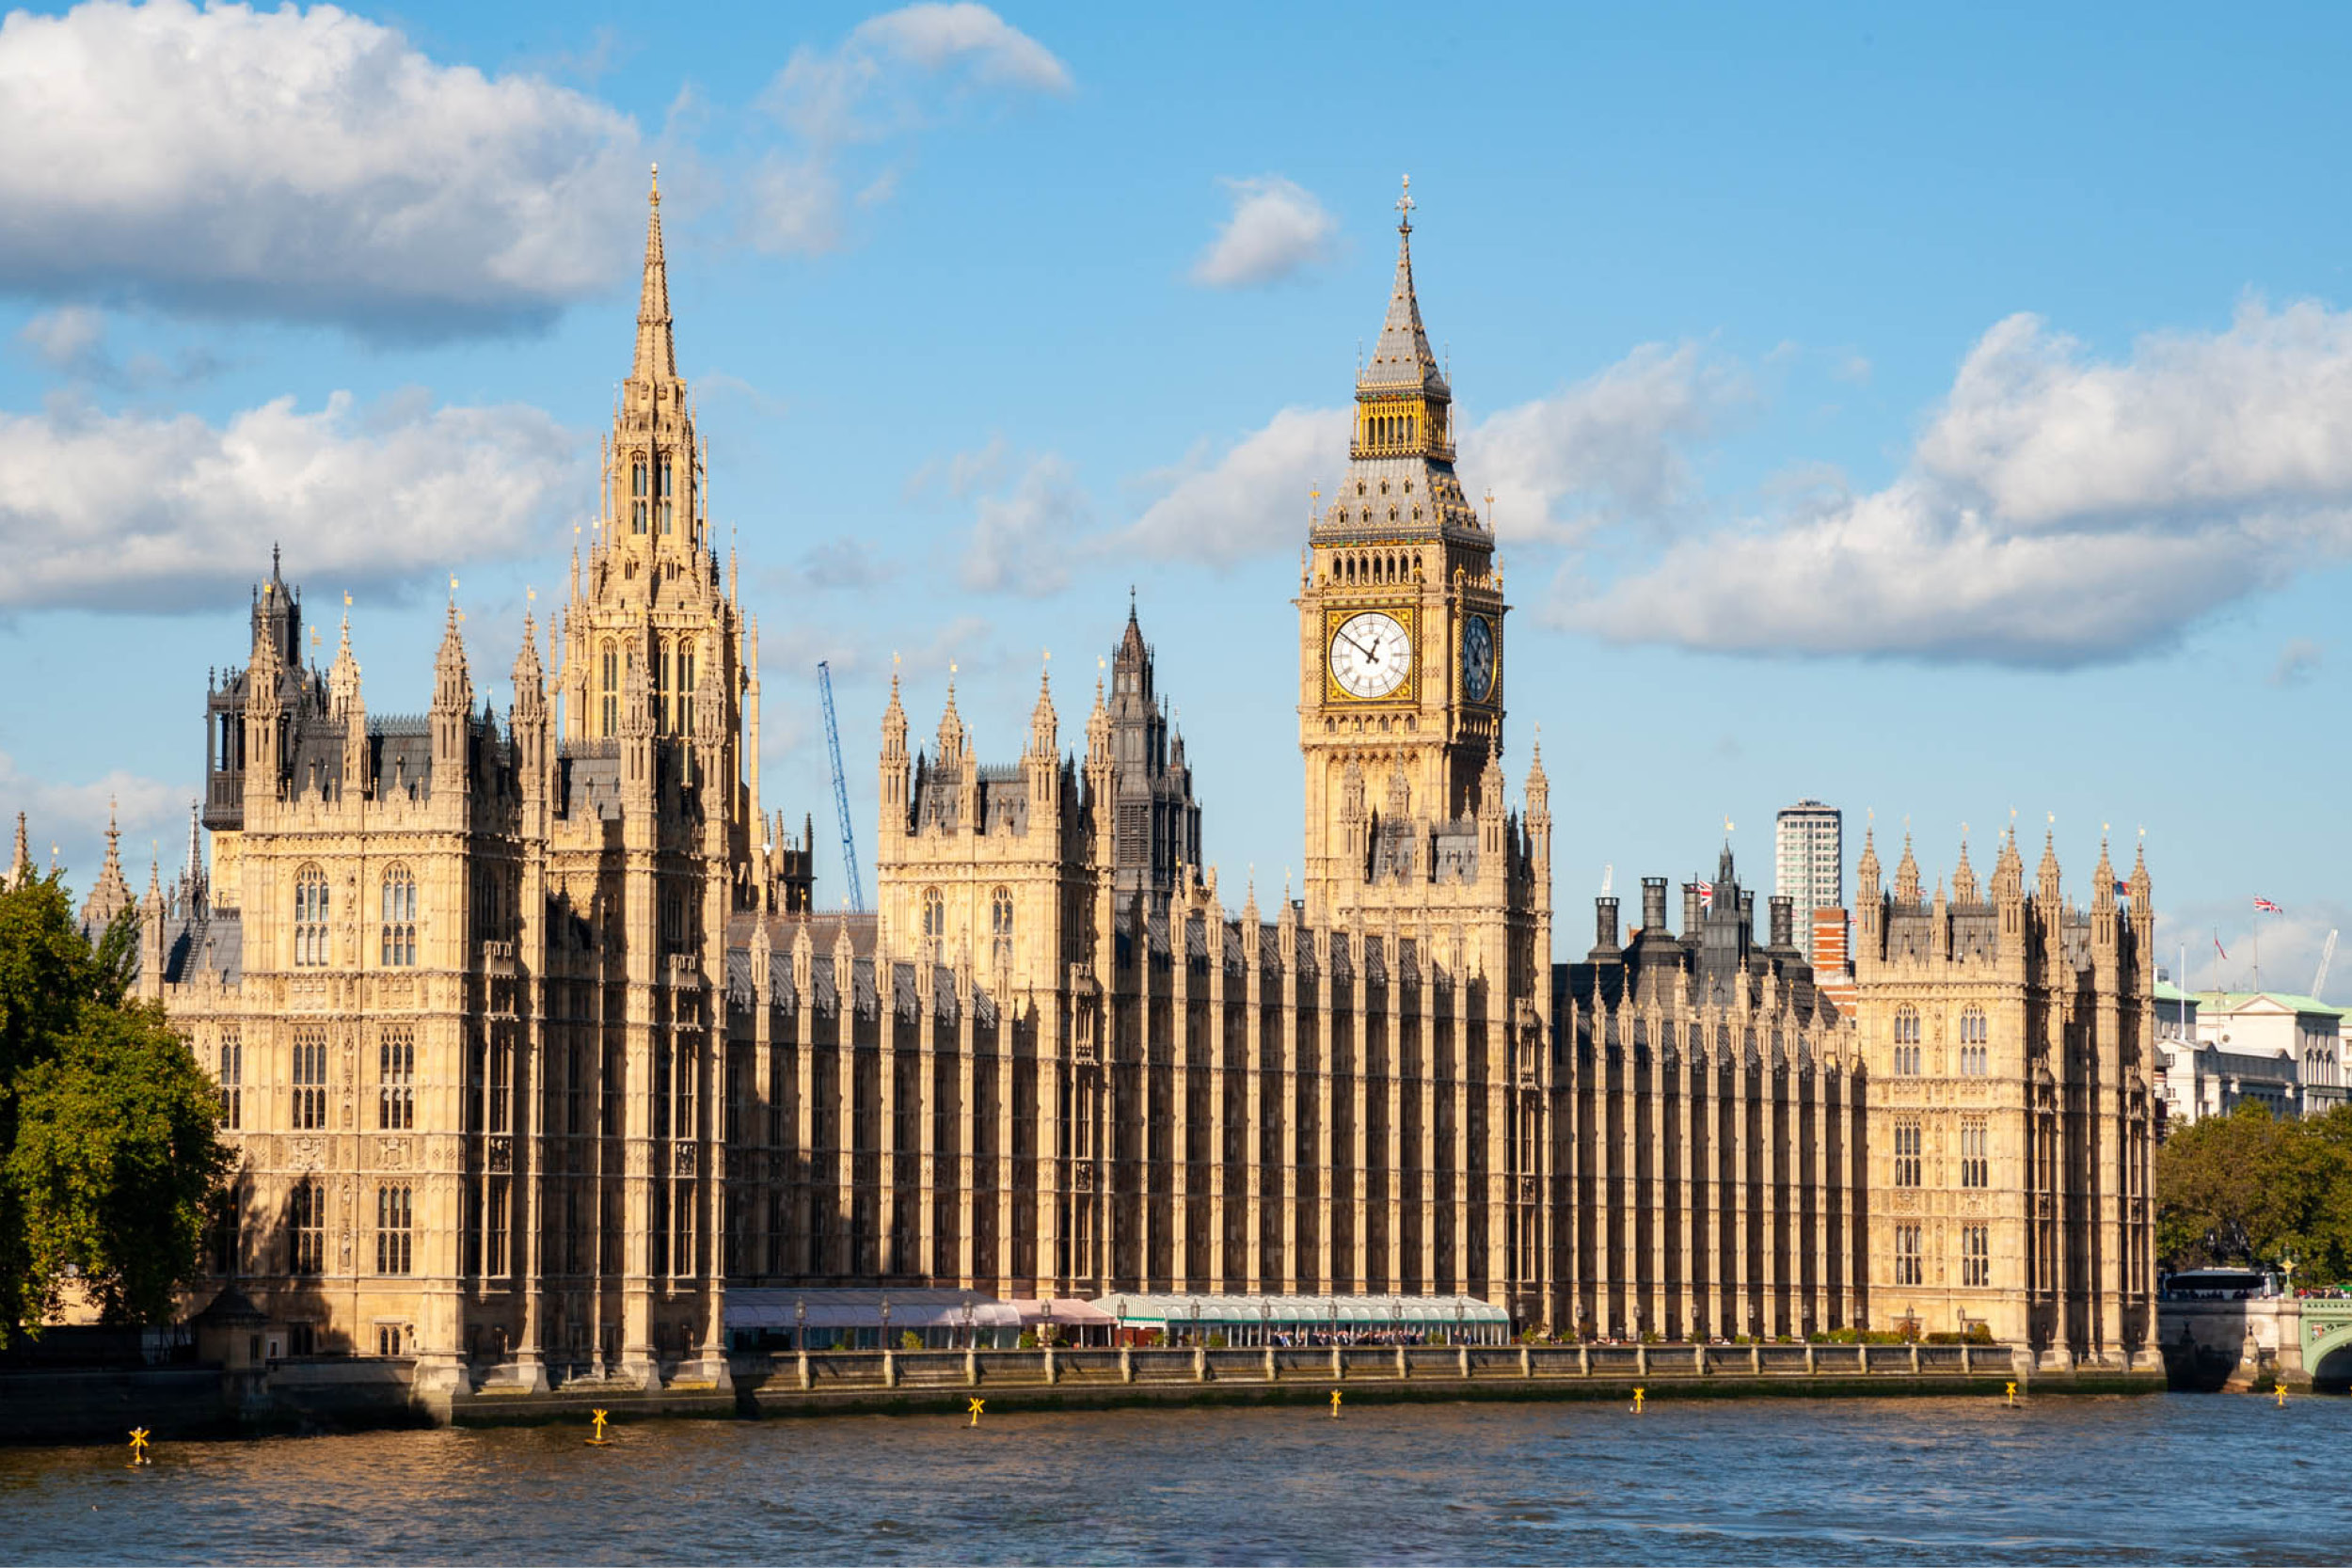
<svg viewBox="0 0 2352 1568"><path fill-rule="evenodd" d="M1581 538L1599 522L1658 520L1691 498L1689 449L1748 402L1740 376L1696 346L1644 346L1461 440L1470 494L1494 489L1503 538ZM1345 409L1282 409L1221 456L1164 475L1169 489L1122 534L1148 555L1225 564L1296 550L1308 496L1348 468Z"/></svg>

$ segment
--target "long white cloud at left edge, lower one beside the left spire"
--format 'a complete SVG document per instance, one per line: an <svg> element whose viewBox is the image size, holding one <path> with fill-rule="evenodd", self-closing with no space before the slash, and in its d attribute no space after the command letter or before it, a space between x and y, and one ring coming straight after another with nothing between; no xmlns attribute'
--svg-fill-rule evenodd
<svg viewBox="0 0 2352 1568"><path fill-rule="evenodd" d="M590 482L574 435L517 404L0 414L0 609L219 604L273 541L310 581L376 585L522 552Z"/></svg>

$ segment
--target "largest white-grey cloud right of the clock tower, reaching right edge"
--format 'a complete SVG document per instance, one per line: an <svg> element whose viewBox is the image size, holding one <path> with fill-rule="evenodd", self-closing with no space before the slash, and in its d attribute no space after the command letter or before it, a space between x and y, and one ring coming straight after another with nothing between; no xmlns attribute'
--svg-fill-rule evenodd
<svg viewBox="0 0 2352 1568"><path fill-rule="evenodd" d="M1621 642L2072 668L2352 552L2352 315L2093 360L1994 324L1889 487L1684 538L1557 614Z"/></svg>

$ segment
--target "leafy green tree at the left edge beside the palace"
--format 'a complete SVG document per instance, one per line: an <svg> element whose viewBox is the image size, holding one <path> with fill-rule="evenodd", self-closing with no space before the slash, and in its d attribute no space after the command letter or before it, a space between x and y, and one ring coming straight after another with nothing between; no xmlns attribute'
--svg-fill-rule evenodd
<svg viewBox="0 0 2352 1568"><path fill-rule="evenodd" d="M0 886L0 1342L71 1276L136 1324L198 1274L230 1157L188 1044L127 994L136 933L85 940L56 872Z"/></svg>

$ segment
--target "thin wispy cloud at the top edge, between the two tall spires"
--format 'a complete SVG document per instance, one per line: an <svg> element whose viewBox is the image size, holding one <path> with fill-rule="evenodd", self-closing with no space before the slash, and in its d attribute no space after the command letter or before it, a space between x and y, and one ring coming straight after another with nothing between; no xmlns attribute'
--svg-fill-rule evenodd
<svg viewBox="0 0 2352 1568"><path fill-rule="evenodd" d="M767 153L748 181L750 242L776 256L847 244L844 167L884 160L924 129L981 99L1065 96L1070 68L985 5L908 5L868 16L833 49L802 45L764 92L795 136ZM856 207L877 207L896 169L856 174Z"/></svg>

